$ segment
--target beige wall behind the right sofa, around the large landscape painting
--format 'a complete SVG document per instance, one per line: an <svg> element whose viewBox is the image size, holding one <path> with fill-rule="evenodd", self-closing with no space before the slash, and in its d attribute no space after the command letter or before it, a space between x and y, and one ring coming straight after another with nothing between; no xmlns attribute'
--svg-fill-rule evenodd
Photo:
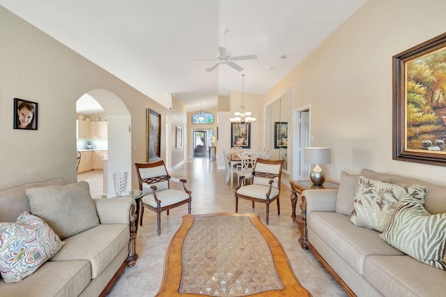
<svg viewBox="0 0 446 297"><path fill-rule="evenodd" d="M392 56L444 33L445 11L443 0L369 0L266 93L291 86L292 112L311 105L312 146L332 148L329 178L366 167L445 183L445 167L392 160Z"/></svg>

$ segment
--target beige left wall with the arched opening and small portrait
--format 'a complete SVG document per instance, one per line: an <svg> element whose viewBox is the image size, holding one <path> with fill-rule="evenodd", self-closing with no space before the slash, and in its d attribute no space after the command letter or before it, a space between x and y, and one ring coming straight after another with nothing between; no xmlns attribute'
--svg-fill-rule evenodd
<svg viewBox="0 0 446 297"><path fill-rule="evenodd" d="M77 180L76 100L95 89L121 98L131 115L131 162L146 161L146 108L162 114L162 128L169 109L1 6L0 40L0 189L57 177ZM37 131L13 129L13 98L38 102ZM178 103L176 108L181 109ZM114 114L118 117L119 111ZM162 131L164 159L166 135ZM176 153L172 156L176 158ZM132 172L134 188L137 178Z"/></svg>

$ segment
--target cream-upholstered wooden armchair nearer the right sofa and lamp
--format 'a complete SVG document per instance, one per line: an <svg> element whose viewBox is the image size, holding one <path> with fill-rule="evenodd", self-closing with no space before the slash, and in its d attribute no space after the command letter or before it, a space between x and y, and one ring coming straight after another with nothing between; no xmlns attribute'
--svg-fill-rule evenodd
<svg viewBox="0 0 446 297"><path fill-rule="evenodd" d="M284 160L264 160L258 158L251 185L243 186L244 176L240 176L240 184L236 188L236 213L238 213L238 199L246 199L254 202L266 204L266 224L270 219L270 203L277 200L277 215L280 215L280 182L282 177L282 165Z"/></svg>

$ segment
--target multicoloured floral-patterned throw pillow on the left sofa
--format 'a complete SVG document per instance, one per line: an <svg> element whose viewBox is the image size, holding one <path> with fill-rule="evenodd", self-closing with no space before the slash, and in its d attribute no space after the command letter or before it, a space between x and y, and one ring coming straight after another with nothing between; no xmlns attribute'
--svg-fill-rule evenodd
<svg viewBox="0 0 446 297"><path fill-rule="evenodd" d="M14 222L0 222L0 274L20 282L54 256L65 243L42 219L24 212Z"/></svg>

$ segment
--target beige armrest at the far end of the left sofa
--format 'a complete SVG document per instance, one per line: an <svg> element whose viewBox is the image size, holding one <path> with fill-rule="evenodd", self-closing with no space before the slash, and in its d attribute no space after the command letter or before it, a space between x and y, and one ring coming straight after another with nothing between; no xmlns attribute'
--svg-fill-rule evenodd
<svg viewBox="0 0 446 297"><path fill-rule="evenodd" d="M135 220L137 204L132 198L98 198L93 201L100 224L130 224Z"/></svg>

